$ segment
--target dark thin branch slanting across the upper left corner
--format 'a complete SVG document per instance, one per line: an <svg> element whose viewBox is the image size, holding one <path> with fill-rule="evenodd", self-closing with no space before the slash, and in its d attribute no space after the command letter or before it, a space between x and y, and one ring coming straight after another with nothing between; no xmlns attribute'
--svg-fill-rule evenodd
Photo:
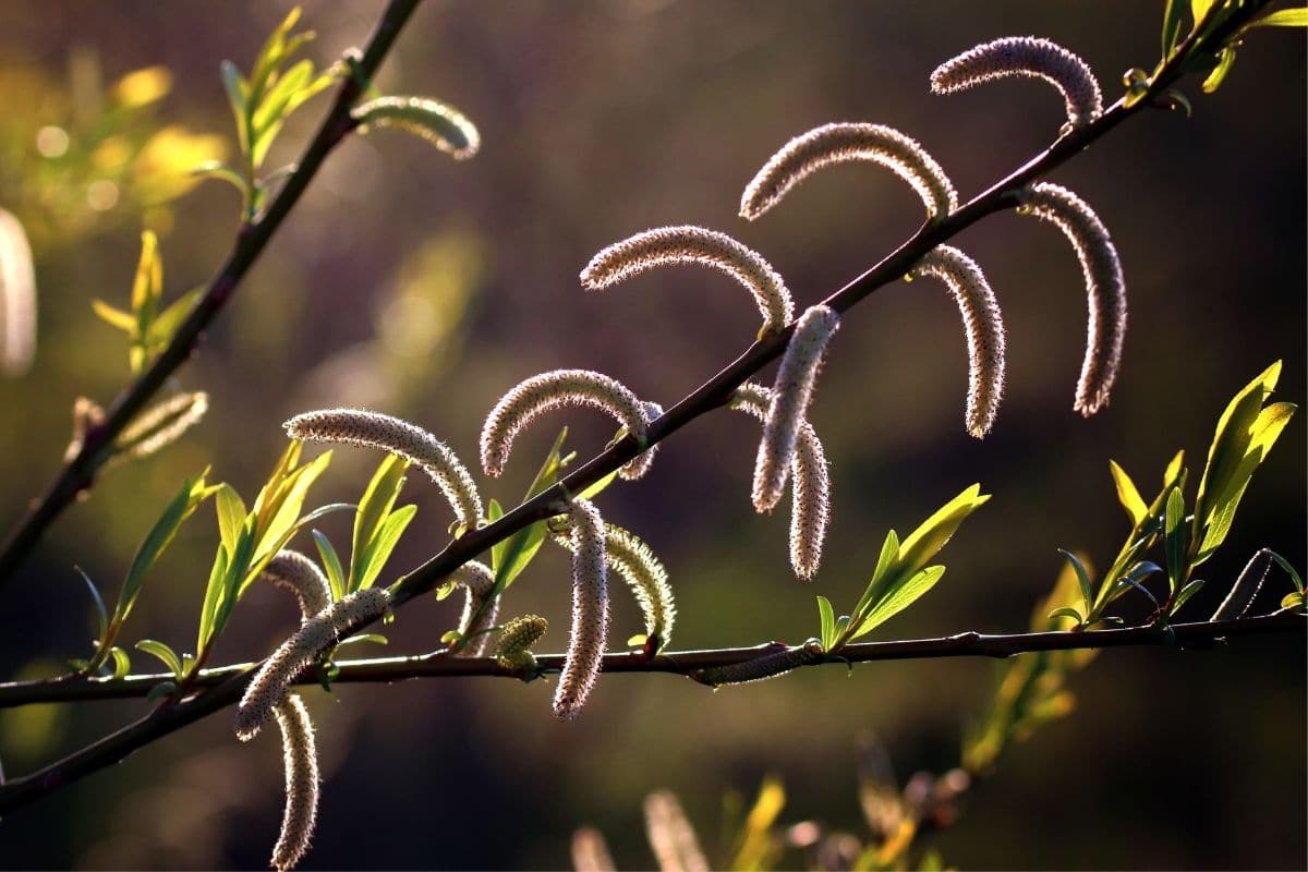
<svg viewBox="0 0 1308 872"><path fill-rule="evenodd" d="M64 509L78 494L90 489L95 481L95 473L109 458L107 448L112 446L118 434L145 408L145 404L173 373L195 353L205 329L235 293L268 241L272 239L290 209L298 203L300 195L309 187L323 161L354 128L349 111L362 93L362 82L369 81L381 65L417 3L419 0L391 0L364 51L362 59L358 61L358 75L341 78L331 111L323 119L318 132L296 163L294 173L286 178L276 199L254 224L241 226L222 268L209 280L204 294L187 319L178 327L167 348L114 400L105 421L88 430L77 454L64 461L44 494L5 539L4 545L0 546L0 586L14 575Z"/></svg>

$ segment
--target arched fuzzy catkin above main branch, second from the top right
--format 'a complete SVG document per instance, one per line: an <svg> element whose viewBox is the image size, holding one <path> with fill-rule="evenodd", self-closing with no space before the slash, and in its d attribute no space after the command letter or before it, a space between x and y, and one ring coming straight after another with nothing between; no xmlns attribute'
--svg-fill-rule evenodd
<svg viewBox="0 0 1308 872"><path fill-rule="evenodd" d="M930 218L959 207L944 170L916 140L882 124L823 124L786 143L753 176L740 197L740 217L753 221L810 175L848 161L884 166L917 191Z"/></svg>

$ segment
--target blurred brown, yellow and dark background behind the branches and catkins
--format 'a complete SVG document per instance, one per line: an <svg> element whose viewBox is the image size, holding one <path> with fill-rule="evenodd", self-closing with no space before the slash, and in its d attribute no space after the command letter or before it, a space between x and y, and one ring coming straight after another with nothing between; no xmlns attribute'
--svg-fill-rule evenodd
<svg viewBox="0 0 1308 872"><path fill-rule="evenodd" d="M831 120L897 127L968 197L1042 149L1062 106L1048 88L1018 81L934 97L926 82L939 61L994 37L1044 35L1086 58L1116 99L1122 71L1156 59L1162 7L421 7L378 86L459 107L481 131L481 153L456 163L382 131L331 156L178 375L181 387L209 392L203 424L107 472L4 590L0 679L54 675L86 656L92 607L73 566L115 596L181 480L213 464L212 478L251 499L284 447L281 421L296 412L377 408L429 428L471 463L485 412L545 369L603 370L670 405L748 345L755 309L723 277L693 269L583 294L576 276L598 248L651 226L702 224L764 252L797 302L811 305L912 234L921 207L889 174L849 166L747 225L735 214L740 190L790 136ZM309 55L327 65L362 44L382 8L305 4L305 25L318 33ZM0 0L0 205L27 229L39 288L34 365L0 380L0 526L54 475L73 400L107 404L129 378L122 333L90 301L126 306L141 229L161 237L167 299L221 264L238 195L216 182L188 191L182 171L234 156L218 63L247 68L286 9ZM1129 284L1122 373L1095 418L1071 411L1086 322L1076 260L1053 227L1001 214L957 241L986 269L1007 319L1010 373L994 433L977 442L963 429L965 345L948 294L896 284L852 311L812 413L835 481L812 584L789 571L789 510L751 509L757 425L744 416L696 421L664 446L651 476L607 492L606 518L638 532L671 571L674 647L815 634L814 594L848 611L886 531L912 529L973 481L994 498L950 544L944 580L878 638L1024 629L1058 574L1057 548L1100 567L1116 554L1126 519L1109 458L1148 497L1177 448L1192 469L1202 463L1226 401L1271 361L1286 362L1278 397L1301 401L1304 68L1303 31L1256 31L1219 93L1186 84L1193 119L1135 119L1056 174L1112 229ZM292 119L269 166L294 159L328 102L322 95ZM583 458L611 435L599 416L553 417L523 437L485 497L515 503L564 421ZM1295 420L1256 476L1202 571L1213 590L1189 614L1207 614L1260 546L1304 567L1304 433ZM375 461L339 450L313 501L357 499ZM419 476L404 498L420 509L394 573L441 548L450 520ZM348 543L348 516L320 526ZM150 575L124 641L192 645L216 540L205 506ZM566 578L566 554L547 550L506 597L509 614L551 618L543 650L565 643ZM1288 590L1273 578L1258 600L1269 611ZM458 621L455 600L411 604L385 652L434 647ZM288 597L251 590L216 660L263 656L294 620ZM615 638L640 629L619 595ZM961 868L1301 868L1304 662L1300 635L1207 652L1105 652L1074 677L1075 713L1011 748L931 843ZM676 792L715 854L725 797L752 795L768 774L786 784L783 821L859 834L861 736L880 737L901 779L956 765L994 668L865 664L718 693L670 676L610 676L566 724L551 718L543 681L309 692L326 787L303 868L564 868L583 824L604 831L619 868L645 868L650 790ZM0 711L0 757L21 774L144 711L131 702ZM0 865L263 867L281 801L276 740L241 745L220 715L5 820Z"/></svg>

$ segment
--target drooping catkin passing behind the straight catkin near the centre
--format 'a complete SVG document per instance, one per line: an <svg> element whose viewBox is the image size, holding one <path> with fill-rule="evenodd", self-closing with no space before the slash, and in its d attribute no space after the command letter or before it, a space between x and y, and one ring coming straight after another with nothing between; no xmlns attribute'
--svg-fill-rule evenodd
<svg viewBox="0 0 1308 872"><path fill-rule="evenodd" d="M747 412L760 421L766 420L770 404L772 391L753 382L738 387L731 399L731 408ZM795 575L808 580L818 573L827 526L831 523L827 452L818 438L818 430L808 421L799 428L790 475L790 566Z"/></svg>

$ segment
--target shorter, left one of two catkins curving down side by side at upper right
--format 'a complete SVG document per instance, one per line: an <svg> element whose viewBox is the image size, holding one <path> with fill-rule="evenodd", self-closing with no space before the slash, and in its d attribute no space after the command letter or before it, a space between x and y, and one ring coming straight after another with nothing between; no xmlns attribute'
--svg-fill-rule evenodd
<svg viewBox="0 0 1308 872"><path fill-rule="evenodd" d="M954 293L968 337L968 433L985 438L1003 399L1005 361L1003 314L990 282L974 260L951 246L933 248L917 265L914 276L943 281Z"/></svg>

